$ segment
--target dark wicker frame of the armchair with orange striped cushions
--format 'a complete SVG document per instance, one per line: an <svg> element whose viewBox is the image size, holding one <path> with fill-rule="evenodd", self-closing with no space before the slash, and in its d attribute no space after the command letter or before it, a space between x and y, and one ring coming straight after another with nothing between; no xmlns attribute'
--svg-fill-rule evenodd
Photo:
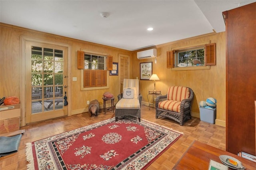
<svg viewBox="0 0 256 170"><path fill-rule="evenodd" d="M190 90L189 98L182 100L180 103L180 113L158 108L158 103L160 101L167 100L167 94L164 96L156 97L156 119L158 119L159 116L167 117L169 119L172 119L172 120L180 123L181 126L186 121L186 119L191 119L190 109L191 109L191 101L194 98L194 92L190 88L189 88L189 90Z"/></svg>

